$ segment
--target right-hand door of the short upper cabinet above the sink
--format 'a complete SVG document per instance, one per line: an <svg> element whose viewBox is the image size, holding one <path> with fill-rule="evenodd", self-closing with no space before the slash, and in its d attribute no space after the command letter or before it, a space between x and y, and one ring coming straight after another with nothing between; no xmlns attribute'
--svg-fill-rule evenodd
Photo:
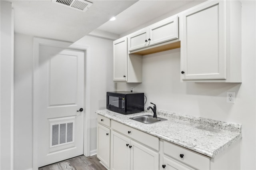
<svg viewBox="0 0 256 170"><path fill-rule="evenodd" d="M149 45L179 38L178 16L166 18L149 27Z"/></svg>

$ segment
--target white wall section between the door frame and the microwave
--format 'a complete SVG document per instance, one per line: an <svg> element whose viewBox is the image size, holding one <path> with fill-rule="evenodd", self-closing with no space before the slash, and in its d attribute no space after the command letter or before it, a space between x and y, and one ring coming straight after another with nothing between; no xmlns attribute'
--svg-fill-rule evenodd
<svg viewBox="0 0 256 170"><path fill-rule="evenodd" d="M106 91L114 91L115 84L112 81L113 42L91 36L85 36L78 40L76 45L89 47L87 56L86 79L89 80L90 99L90 151L96 153L97 149L97 115L96 110L106 109ZM86 113L87 114L87 113Z"/></svg>

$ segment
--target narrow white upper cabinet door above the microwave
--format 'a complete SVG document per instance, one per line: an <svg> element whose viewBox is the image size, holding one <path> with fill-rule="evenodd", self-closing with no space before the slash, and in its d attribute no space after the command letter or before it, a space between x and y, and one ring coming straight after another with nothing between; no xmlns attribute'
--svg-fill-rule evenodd
<svg viewBox="0 0 256 170"><path fill-rule="evenodd" d="M113 42L113 81L127 81L127 38Z"/></svg>

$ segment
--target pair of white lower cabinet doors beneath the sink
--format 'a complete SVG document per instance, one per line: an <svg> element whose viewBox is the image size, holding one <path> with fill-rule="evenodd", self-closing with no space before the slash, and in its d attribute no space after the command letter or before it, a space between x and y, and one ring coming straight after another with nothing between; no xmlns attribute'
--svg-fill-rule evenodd
<svg viewBox="0 0 256 170"><path fill-rule="evenodd" d="M112 170L157 170L158 152L112 131L111 134Z"/></svg>

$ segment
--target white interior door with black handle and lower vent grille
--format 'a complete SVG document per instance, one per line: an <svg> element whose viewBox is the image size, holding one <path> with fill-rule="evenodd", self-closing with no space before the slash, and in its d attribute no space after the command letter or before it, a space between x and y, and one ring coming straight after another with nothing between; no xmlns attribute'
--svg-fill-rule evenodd
<svg viewBox="0 0 256 170"><path fill-rule="evenodd" d="M39 46L34 76L38 167L83 154L84 51Z"/></svg>

